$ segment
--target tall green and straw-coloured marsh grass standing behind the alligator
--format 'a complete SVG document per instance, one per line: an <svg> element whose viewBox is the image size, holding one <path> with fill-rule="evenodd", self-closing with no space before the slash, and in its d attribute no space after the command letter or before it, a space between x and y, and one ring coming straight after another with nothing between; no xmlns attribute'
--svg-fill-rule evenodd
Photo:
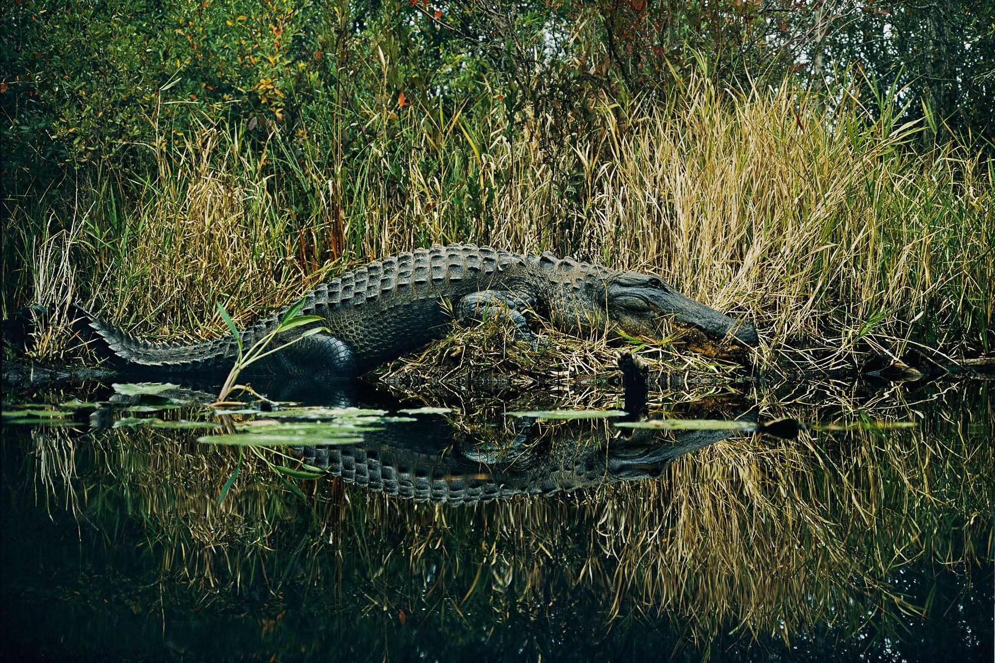
<svg viewBox="0 0 995 663"><path fill-rule="evenodd" d="M754 320L765 362L990 352L995 168L966 146L916 154L917 127L884 107L692 80L664 106L604 102L556 154L537 122L509 139L497 107L413 107L372 114L341 163L306 127L202 123L148 146L148 174L8 199L4 308L75 297L200 339L224 330L216 303L242 324L362 259L462 241L658 272ZM36 355L62 352L53 334Z"/></svg>

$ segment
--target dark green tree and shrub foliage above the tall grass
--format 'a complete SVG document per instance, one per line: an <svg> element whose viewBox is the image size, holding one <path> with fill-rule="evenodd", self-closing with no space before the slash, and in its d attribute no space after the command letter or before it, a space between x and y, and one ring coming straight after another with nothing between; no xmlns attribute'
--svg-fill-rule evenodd
<svg viewBox="0 0 995 663"><path fill-rule="evenodd" d="M14 0L0 81L5 183L133 169L195 122L326 134L343 158L372 118L496 106L550 146L602 100L660 97L691 72L723 84L785 75L896 83L927 140L988 136L991 0ZM376 125L377 130L389 130ZM165 131L163 131L165 129ZM553 147L550 148L553 151Z"/></svg>

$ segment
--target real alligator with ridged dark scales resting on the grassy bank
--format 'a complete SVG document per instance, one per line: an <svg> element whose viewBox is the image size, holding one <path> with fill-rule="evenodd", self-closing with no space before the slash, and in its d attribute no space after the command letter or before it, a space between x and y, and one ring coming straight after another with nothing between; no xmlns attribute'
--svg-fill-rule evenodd
<svg viewBox="0 0 995 663"><path fill-rule="evenodd" d="M621 330L657 338L673 323L715 347L744 351L757 344L753 325L686 297L655 275L549 252L522 254L471 245L416 249L370 262L318 285L303 296L302 304L300 314L322 321L278 334L271 347L290 345L260 362L264 370L359 376L443 338L454 319L469 325L501 318L514 326L516 338L527 341L534 341L528 322L537 315L569 333ZM148 343L83 307L73 310L77 329L115 369L227 373L239 353L234 335L185 345ZM288 310L242 331L242 346L251 347L273 333Z"/></svg>

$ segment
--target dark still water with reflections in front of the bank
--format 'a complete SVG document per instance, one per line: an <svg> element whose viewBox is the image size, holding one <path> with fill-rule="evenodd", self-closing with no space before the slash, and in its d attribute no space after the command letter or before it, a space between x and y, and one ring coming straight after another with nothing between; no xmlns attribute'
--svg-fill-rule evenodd
<svg viewBox="0 0 995 663"><path fill-rule="evenodd" d="M102 385L5 395L5 411L112 396ZM117 395L99 414L62 409L70 414L46 423L8 416L0 446L8 652L992 660L995 414L984 383L668 394L655 408L658 417L746 427L781 416L916 422L791 439L732 425L632 430L614 418L501 414L523 409L518 403L433 402L454 411L399 414L424 404L368 389L277 394L387 412L315 417L338 421L327 435L343 445L308 452L308 464L350 480L275 469L300 469L287 447L203 443L197 438L221 431L134 420L207 420L171 407L174 396ZM613 399L586 405L611 408ZM22 406L23 420L38 415ZM271 415L210 420L231 432L233 421ZM311 422L268 429L289 425L320 434ZM233 439L246 434L259 433ZM370 474L383 464L404 470L412 486ZM385 494L414 492L419 472L422 483L436 480L423 496L466 503ZM499 499L485 501L489 490Z"/></svg>

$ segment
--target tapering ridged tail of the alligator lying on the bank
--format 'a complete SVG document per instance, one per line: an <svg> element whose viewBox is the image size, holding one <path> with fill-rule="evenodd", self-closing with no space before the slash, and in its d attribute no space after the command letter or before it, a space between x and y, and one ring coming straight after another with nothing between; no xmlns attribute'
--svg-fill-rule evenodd
<svg viewBox="0 0 995 663"><path fill-rule="evenodd" d="M100 359L118 369L221 371L231 368L237 348L231 336L204 343L149 343L109 325L77 304L70 306L73 327Z"/></svg>

